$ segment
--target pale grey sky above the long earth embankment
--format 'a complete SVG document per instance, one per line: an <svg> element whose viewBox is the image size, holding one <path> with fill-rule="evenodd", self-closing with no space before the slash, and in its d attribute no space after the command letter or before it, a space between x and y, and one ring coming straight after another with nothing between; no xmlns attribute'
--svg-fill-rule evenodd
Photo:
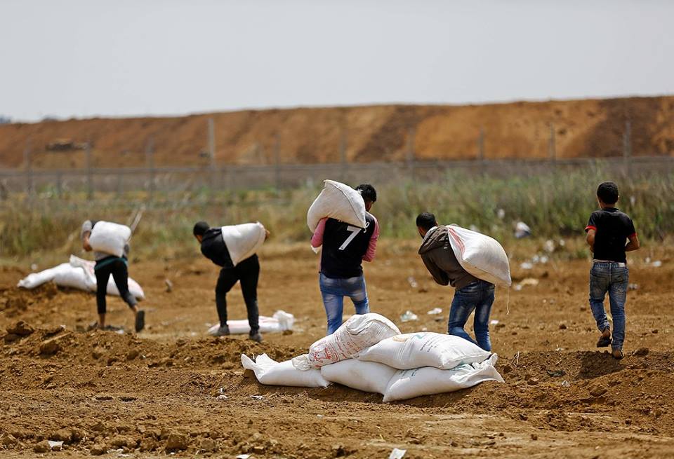
<svg viewBox="0 0 674 459"><path fill-rule="evenodd" d="M0 0L0 115L674 93L668 0Z"/></svg>

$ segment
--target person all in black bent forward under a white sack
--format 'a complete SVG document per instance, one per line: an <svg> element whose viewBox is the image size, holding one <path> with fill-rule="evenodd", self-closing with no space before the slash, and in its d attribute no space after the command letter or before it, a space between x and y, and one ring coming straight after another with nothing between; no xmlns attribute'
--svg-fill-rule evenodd
<svg viewBox="0 0 674 459"><path fill-rule="evenodd" d="M269 231L265 230L265 232L269 236ZM201 244L201 253L222 268L216 284L216 307L218 319L220 319L220 327L216 331L216 336L230 334L230 327L227 326L227 292L236 285L237 281L240 281L248 313L248 323L251 327L249 338L260 343L262 341L258 312L260 262L257 254L249 256L234 266L221 228L211 228L205 221L199 221L194 225L193 233Z"/></svg>

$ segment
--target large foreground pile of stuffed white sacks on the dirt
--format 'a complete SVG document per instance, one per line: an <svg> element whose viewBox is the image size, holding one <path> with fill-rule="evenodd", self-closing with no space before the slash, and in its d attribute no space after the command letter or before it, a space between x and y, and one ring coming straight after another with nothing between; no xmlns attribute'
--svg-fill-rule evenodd
<svg viewBox="0 0 674 459"><path fill-rule="evenodd" d="M496 354L458 336L432 332L400 334L382 315L354 315L335 333L319 339L309 353L286 362L266 354L241 356L265 385L326 388L339 383L377 392L384 402L470 388L503 378Z"/></svg>

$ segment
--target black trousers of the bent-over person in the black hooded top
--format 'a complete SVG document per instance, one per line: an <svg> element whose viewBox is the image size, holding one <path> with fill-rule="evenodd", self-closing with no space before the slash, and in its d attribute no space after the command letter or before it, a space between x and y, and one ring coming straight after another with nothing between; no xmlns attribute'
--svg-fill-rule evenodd
<svg viewBox="0 0 674 459"><path fill-rule="evenodd" d="M241 282L241 290L248 311L248 323L251 326L251 334L260 329L258 313L258 278L260 277L260 263L258 256L253 255L234 268L220 270L218 284L216 285L216 306L218 306L218 318L220 327L227 324L227 292L237 283Z"/></svg>

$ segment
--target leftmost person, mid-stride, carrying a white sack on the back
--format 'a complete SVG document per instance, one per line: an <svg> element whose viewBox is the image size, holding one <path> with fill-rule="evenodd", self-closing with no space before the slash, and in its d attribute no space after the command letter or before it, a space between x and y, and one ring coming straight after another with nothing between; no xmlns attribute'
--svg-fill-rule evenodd
<svg viewBox="0 0 674 459"><path fill-rule="evenodd" d="M138 309L138 301L136 298L128 291L128 241L124 243L124 249L122 250L121 256L119 254L110 254L107 252L95 251L91 247L89 238L91 233L95 228L96 224L103 226L108 224L105 221L95 221L95 220L86 220L82 224L81 229L81 239L82 247L87 252L93 251L93 256L96 261L96 264L93 268L96 275L96 308L98 309L98 328L105 329L105 313L106 313L106 301L105 296L107 295L107 282L110 280L110 275L114 280L114 284L117 285L117 290L119 290L119 296L121 299L128 304L128 307L133 311L134 320L135 320L135 329L136 332L141 331L145 328L145 311ZM114 226L114 224L112 224ZM131 233L131 231L126 228L126 231Z"/></svg>

